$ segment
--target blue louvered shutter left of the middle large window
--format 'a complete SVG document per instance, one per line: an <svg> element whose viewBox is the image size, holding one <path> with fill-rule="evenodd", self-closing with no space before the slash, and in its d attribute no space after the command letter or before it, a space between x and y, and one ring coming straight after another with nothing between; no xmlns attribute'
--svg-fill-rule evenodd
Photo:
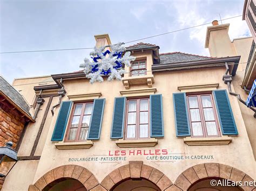
<svg viewBox="0 0 256 191"><path fill-rule="evenodd" d="M126 97L114 98L111 139L123 138Z"/></svg>

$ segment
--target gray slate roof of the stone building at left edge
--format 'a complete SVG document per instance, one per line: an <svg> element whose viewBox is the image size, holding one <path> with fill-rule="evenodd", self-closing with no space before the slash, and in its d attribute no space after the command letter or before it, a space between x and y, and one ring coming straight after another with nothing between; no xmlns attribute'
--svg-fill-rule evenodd
<svg viewBox="0 0 256 191"><path fill-rule="evenodd" d="M24 97L18 93L18 91L11 86L2 76L0 76L0 91L8 96L14 103L22 108L27 114L29 114L29 104L25 101ZM30 115L30 114L29 114Z"/></svg>

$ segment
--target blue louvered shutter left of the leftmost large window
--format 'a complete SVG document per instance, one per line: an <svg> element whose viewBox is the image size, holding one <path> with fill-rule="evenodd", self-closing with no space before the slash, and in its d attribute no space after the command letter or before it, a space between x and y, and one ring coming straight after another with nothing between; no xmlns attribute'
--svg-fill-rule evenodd
<svg viewBox="0 0 256 191"><path fill-rule="evenodd" d="M66 124L68 123L68 119L69 119L71 105L72 105L72 101L62 102L59 109L59 114L55 124L55 128L52 133L52 138L51 138L52 142L63 140Z"/></svg>

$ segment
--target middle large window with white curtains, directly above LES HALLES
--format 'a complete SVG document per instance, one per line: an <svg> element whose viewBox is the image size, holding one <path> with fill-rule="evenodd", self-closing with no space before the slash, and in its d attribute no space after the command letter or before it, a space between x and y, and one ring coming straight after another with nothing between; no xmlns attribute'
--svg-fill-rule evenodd
<svg viewBox="0 0 256 191"><path fill-rule="evenodd" d="M149 98L127 101L126 139L149 138Z"/></svg>

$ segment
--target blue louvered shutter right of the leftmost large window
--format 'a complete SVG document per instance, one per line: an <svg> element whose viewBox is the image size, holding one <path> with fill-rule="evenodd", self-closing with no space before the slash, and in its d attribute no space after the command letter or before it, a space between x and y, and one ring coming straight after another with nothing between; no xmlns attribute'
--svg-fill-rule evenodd
<svg viewBox="0 0 256 191"><path fill-rule="evenodd" d="M104 112L105 99L95 99L93 102L92 117L88 133L88 140L96 140L100 137L102 129L102 118Z"/></svg>

